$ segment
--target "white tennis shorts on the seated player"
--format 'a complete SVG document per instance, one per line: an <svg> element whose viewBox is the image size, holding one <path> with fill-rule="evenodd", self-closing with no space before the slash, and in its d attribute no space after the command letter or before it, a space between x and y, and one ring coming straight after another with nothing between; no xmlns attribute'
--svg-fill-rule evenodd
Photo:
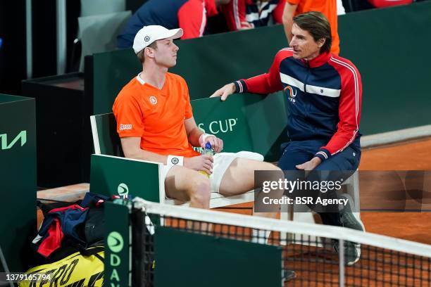
<svg viewBox="0 0 431 287"><path fill-rule="evenodd" d="M216 153L213 157L213 173L210 175L211 192L217 192L220 189L220 183L223 179L227 168L235 158L247 158L249 160L263 161L263 155L252 153L251 151L239 151L238 153ZM161 182L165 182L166 175L173 165L163 165L161 172Z"/></svg>

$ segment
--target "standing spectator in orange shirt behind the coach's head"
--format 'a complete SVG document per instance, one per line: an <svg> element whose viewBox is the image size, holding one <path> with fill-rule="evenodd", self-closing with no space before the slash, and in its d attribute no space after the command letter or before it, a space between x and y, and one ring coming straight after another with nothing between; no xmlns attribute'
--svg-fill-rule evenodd
<svg viewBox="0 0 431 287"><path fill-rule="evenodd" d="M282 0L284 1L284 0ZM282 21L285 26L287 42L292 39L293 18L296 15L308 12L318 11L323 13L329 20L332 33L331 52L339 54L339 37L337 23L337 0L285 0L285 10L283 11Z"/></svg>

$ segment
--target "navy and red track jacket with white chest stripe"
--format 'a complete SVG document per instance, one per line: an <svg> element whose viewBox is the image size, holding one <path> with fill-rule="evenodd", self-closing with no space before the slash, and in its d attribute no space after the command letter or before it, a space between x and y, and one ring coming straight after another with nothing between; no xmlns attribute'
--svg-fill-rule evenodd
<svg viewBox="0 0 431 287"><path fill-rule="evenodd" d="M266 74L240 79L235 86L239 93L269 94L283 89L289 138L326 139L327 144L316 153L321 160L361 136L361 75L345 58L321 53L309 61L297 60L292 49L281 49Z"/></svg>

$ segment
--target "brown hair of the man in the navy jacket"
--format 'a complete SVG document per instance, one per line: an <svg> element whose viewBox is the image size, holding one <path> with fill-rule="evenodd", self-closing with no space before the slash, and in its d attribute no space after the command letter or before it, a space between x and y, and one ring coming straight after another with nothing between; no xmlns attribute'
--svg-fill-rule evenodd
<svg viewBox="0 0 431 287"><path fill-rule="evenodd" d="M302 30L313 36L314 41L325 38L325 44L320 47L320 53L329 52L332 46L331 25L325 15L317 11L309 11L296 15L293 21Z"/></svg>

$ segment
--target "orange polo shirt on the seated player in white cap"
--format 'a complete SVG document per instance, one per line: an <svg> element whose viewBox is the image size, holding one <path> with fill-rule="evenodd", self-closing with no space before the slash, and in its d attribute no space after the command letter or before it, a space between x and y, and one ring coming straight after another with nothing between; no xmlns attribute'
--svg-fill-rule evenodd
<svg viewBox="0 0 431 287"><path fill-rule="evenodd" d="M115 98L120 137L139 136L141 148L161 155L199 155L187 139L184 121L193 116L185 79L167 72L162 89L133 78Z"/></svg>

